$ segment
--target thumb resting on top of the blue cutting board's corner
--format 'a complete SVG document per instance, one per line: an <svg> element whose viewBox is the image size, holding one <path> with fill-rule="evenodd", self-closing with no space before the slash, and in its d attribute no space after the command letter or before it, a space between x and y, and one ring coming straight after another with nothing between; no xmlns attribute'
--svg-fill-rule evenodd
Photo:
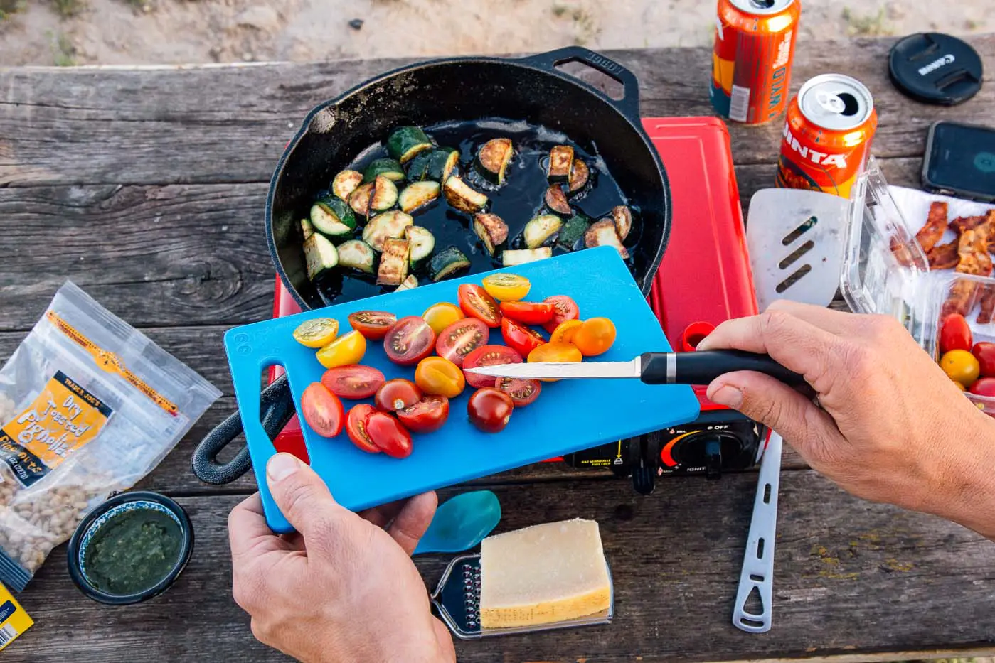
<svg viewBox="0 0 995 663"><path fill-rule="evenodd" d="M328 487L291 453L277 453L266 464L266 483L287 520L306 538L315 523L339 509Z"/></svg>

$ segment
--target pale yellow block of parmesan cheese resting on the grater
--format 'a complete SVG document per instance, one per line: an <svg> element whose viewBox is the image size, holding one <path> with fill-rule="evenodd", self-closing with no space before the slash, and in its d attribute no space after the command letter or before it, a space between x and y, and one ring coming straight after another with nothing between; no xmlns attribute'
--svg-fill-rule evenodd
<svg viewBox="0 0 995 663"><path fill-rule="evenodd" d="M565 520L481 544L481 627L575 619L611 605L611 580L593 520Z"/></svg>

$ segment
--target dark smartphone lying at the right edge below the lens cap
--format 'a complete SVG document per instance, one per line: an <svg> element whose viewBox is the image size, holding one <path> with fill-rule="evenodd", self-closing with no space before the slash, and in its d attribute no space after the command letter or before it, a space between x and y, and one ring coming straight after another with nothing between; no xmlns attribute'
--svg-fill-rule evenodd
<svg viewBox="0 0 995 663"><path fill-rule="evenodd" d="M922 186L938 194L995 203L995 129L933 123L926 138Z"/></svg>

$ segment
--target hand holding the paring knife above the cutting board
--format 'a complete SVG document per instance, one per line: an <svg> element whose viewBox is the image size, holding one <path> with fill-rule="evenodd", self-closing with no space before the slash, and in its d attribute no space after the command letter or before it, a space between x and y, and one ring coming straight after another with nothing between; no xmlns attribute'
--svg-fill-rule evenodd
<svg viewBox="0 0 995 663"><path fill-rule="evenodd" d="M775 302L719 325L698 350L770 355L819 405L768 376L730 373L708 398L779 432L849 492L995 537L995 421L891 317Z"/></svg>

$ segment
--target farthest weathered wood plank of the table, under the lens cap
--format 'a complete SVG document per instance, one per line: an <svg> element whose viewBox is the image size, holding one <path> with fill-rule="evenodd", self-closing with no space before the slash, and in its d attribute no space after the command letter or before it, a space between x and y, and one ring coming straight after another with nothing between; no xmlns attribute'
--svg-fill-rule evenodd
<svg viewBox="0 0 995 663"><path fill-rule="evenodd" d="M967 38L989 77L995 36ZM982 121L995 88L942 108L914 103L888 81L895 40L800 42L792 90L825 72L843 72L875 94L882 127L876 151L921 150L940 117ZM708 49L609 52L641 82L645 116L712 114ZM300 119L315 104L410 61L277 64L239 69L0 69L0 186L267 182ZM585 77L586 78L586 77ZM732 128L737 163L768 163L780 121Z"/></svg>

